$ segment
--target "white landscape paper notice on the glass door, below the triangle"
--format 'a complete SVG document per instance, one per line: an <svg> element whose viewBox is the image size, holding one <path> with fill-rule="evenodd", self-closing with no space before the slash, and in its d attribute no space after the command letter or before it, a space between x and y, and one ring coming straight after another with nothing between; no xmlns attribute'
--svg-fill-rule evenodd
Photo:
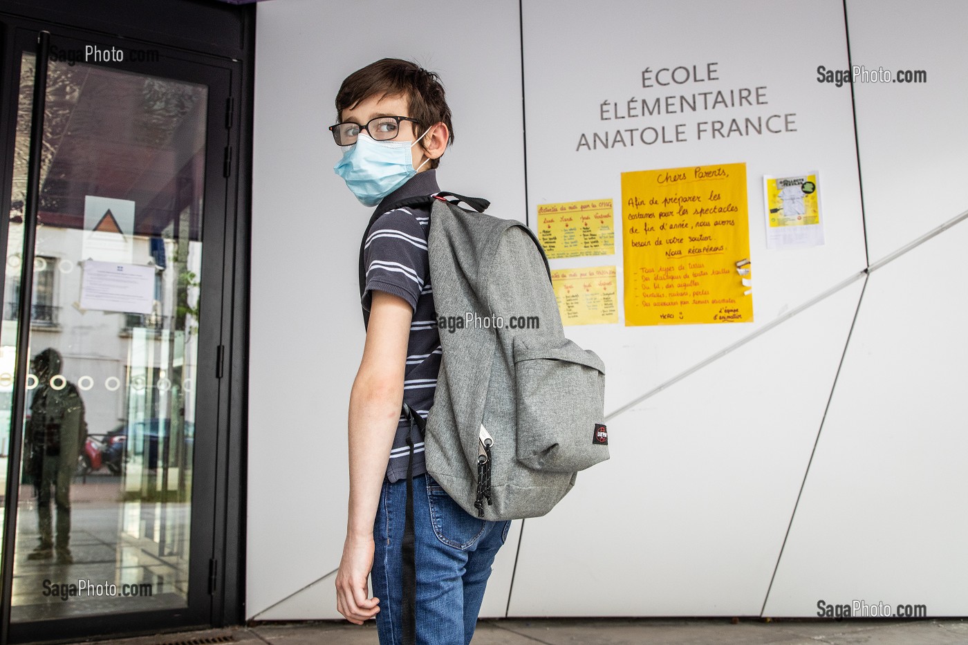
<svg viewBox="0 0 968 645"><path fill-rule="evenodd" d="M80 287L83 309L150 314L154 299L154 266L84 262L84 280Z"/></svg>

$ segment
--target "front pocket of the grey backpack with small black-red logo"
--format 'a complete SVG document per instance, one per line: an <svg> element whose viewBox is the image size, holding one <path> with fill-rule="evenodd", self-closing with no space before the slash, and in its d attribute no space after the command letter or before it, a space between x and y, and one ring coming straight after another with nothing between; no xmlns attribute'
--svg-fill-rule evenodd
<svg viewBox="0 0 968 645"><path fill-rule="evenodd" d="M570 340L529 348L515 338L514 368L518 461L536 471L572 473L608 459L601 358Z"/></svg>

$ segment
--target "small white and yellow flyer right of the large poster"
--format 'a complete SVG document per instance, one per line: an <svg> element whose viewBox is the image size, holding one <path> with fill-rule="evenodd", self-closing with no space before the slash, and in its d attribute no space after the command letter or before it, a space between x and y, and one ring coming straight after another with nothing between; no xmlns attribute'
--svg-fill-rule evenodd
<svg viewBox="0 0 968 645"><path fill-rule="evenodd" d="M768 249L803 249L823 245L824 227L820 221L820 182L817 174L804 172L796 177L764 175Z"/></svg>

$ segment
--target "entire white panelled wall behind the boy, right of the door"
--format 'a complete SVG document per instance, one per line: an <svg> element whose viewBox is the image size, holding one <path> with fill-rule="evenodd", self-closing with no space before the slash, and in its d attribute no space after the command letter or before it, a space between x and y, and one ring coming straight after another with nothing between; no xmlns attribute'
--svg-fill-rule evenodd
<svg viewBox="0 0 968 645"><path fill-rule="evenodd" d="M619 203L621 171L747 167L754 322L569 328L608 365L607 411L633 405L609 421L613 459L547 517L516 523L483 615L813 616L818 599L854 598L968 614L956 513L968 224L865 274L868 256L968 209L968 54L942 46L960 42L968 7L849 0L849 24L836 0L810 3L808 19L767 0L523 0L523 24L511 0L446 7L353 3L407 16L374 30L333 21L327 3L258 6L247 616L337 617L326 576L345 531L369 211L332 173L325 127L342 78L388 55L440 73L457 133L441 186L490 198L495 214L525 219L522 61L532 215ZM857 64L928 75L855 86L862 174L850 87L815 71L847 68L848 31ZM767 85L768 113L797 112L798 132L575 153L603 100L642 92L645 66L711 60L720 85ZM821 172L826 244L768 251L762 175L806 169ZM621 268L616 243L588 265Z"/></svg>

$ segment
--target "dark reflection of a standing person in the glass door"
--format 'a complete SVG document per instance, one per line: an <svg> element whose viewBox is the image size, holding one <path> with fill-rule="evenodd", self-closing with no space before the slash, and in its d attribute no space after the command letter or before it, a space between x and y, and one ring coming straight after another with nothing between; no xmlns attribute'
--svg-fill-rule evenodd
<svg viewBox="0 0 968 645"><path fill-rule="evenodd" d="M57 564L74 562L71 555L71 479L77 456L87 436L84 402L75 384L61 375L60 353L47 348L34 356L31 372L37 387L30 404L30 419L24 434L27 473L37 493L37 519L41 543L27 555L28 560L49 560L56 554ZM57 507L57 532L54 536L50 510L51 489Z"/></svg>

